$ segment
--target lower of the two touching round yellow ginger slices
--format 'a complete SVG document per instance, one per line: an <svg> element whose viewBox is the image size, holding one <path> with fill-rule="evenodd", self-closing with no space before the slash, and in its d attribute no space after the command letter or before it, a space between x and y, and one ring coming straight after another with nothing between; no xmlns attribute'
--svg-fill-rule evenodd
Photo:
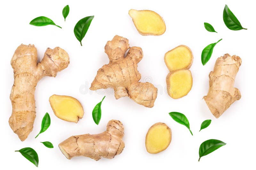
<svg viewBox="0 0 256 170"><path fill-rule="evenodd" d="M189 70L177 70L167 75L167 91L174 99L186 96L192 88L193 79Z"/></svg>

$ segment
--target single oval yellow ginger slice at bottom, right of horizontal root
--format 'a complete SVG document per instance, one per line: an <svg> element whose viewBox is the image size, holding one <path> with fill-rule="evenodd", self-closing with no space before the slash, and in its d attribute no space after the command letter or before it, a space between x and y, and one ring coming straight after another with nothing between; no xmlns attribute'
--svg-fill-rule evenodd
<svg viewBox="0 0 256 170"><path fill-rule="evenodd" d="M164 151L171 143L171 129L164 123L153 124L146 135L146 149L148 153Z"/></svg>

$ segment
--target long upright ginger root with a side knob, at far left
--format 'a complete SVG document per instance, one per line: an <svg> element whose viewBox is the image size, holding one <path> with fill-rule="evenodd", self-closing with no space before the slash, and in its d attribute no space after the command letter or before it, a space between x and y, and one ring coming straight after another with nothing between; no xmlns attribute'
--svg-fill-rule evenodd
<svg viewBox="0 0 256 170"><path fill-rule="evenodd" d="M9 124L21 141L24 141L33 129L37 82L44 76L55 77L59 71L68 67L68 64L68 53L60 47L47 48L44 58L39 63L34 45L21 44L16 49L11 60L14 83L10 95L12 116Z"/></svg>

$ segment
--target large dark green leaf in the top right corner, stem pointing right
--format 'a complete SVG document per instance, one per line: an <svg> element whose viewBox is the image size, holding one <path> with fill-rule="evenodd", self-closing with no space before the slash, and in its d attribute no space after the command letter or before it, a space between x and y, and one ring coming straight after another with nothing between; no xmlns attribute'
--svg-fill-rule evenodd
<svg viewBox="0 0 256 170"><path fill-rule="evenodd" d="M224 11L223 11L223 21L225 25L230 30L247 30L247 28L243 28L236 16L231 12L228 8L228 5L225 5Z"/></svg>

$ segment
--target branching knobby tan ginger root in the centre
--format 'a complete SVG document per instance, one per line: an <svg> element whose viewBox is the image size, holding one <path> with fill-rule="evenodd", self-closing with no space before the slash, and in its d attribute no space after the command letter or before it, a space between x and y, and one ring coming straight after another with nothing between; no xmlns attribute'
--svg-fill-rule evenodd
<svg viewBox="0 0 256 170"><path fill-rule="evenodd" d="M131 47L129 40L116 35L105 46L109 63L102 66L92 82L91 90L113 88L115 97L129 96L136 103L145 107L153 107L157 96L157 88L149 82L138 82L141 74L137 64L143 57L140 47Z"/></svg>

